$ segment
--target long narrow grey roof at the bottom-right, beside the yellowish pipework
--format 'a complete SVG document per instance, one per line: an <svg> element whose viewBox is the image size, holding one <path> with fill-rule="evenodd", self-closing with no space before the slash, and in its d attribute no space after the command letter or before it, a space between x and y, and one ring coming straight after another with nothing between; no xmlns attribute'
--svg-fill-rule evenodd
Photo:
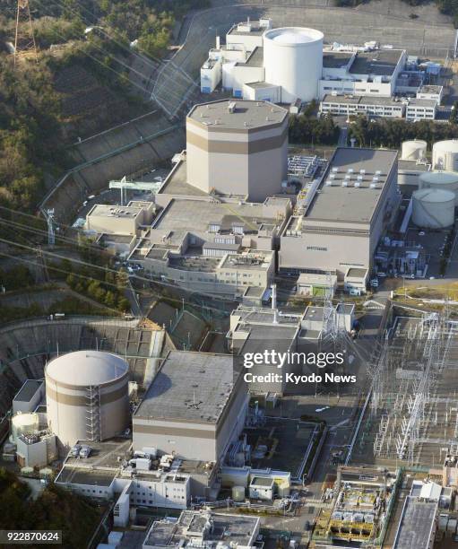
<svg viewBox="0 0 458 549"><path fill-rule="evenodd" d="M437 504L407 496L393 549L428 549Z"/></svg>

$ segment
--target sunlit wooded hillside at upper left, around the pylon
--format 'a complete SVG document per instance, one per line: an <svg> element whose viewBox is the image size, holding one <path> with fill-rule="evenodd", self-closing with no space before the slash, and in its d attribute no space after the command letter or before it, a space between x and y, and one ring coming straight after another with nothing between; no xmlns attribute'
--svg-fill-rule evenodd
<svg viewBox="0 0 458 549"><path fill-rule="evenodd" d="M39 65L30 61L13 69L12 56L0 47L0 205L33 211L44 194L45 177L69 167L62 97L56 77L65 66L84 65L100 83L133 90L118 59L130 44L150 57L163 57L177 21L208 0L33 0L30 2ZM13 42L16 0L0 0L0 42ZM65 46L58 55L49 49ZM27 70L25 70L25 68ZM130 94L130 95L129 95ZM80 134L77 134L80 135Z"/></svg>

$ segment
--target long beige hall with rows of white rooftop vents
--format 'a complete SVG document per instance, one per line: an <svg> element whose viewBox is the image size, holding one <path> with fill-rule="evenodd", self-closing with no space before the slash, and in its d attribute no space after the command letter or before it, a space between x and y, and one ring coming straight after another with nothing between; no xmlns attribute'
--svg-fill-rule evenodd
<svg viewBox="0 0 458 549"><path fill-rule="evenodd" d="M370 272L400 203L396 180L396 151L337 148L281 235L280 268L331 271L342 282L350 267Z"/></svg>

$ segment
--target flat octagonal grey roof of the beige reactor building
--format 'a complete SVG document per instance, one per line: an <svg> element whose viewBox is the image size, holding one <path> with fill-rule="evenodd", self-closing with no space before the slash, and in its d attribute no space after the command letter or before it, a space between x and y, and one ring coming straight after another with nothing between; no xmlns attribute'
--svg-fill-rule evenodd
<svg viewBox="0 0 458 549"><path fill-rule="evenodd" d="M235 103L229 112L229 103ZM281 124L288 117L288 110L267 101L219 100L195 105L187 118L206 126L207 129L243 130L264 129ZM218 124L215 125L215 120Z"/></svg>

